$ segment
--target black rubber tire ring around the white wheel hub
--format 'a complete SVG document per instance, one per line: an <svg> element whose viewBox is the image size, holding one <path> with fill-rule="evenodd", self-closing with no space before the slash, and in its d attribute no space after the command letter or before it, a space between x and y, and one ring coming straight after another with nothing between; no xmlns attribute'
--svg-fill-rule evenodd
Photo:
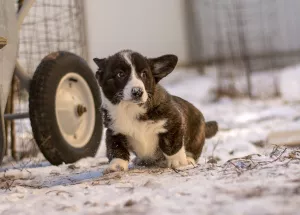
<svg viewBox="0 0 300 215"><path fill-rule="evenodd" d="M79 74L90 86L95 102L95 126L88 143L75 148L63 138L55 114L55 95L67 73ZM81 57L70 52L54 52L38 65L29 90L29 118L33 136L45 158L53 165L94 157L102 137L101 94L95 75Z"/></svg>

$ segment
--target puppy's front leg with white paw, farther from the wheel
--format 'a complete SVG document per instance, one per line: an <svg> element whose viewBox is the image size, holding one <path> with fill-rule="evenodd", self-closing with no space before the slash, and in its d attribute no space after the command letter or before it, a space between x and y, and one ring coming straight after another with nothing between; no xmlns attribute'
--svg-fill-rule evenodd
<svg viewBox="0 0 300 215"><path fill-rule="evenodd" d="M168 167L178 168L188 165L183 144L183 135L178 133L161 134L159 137L159 147L167 159Z"/></svg>

